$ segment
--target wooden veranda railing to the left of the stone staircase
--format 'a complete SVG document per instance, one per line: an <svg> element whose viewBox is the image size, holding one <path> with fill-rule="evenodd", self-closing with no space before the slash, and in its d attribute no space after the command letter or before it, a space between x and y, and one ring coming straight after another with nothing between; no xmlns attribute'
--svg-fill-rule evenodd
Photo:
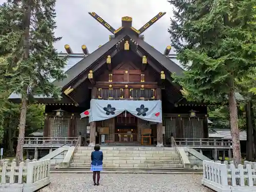
<svg viewBox="0 0 256 192"><path fill-rule="evenodd" d="M75 145L78 137L25 137L24 145Z"/></svg>

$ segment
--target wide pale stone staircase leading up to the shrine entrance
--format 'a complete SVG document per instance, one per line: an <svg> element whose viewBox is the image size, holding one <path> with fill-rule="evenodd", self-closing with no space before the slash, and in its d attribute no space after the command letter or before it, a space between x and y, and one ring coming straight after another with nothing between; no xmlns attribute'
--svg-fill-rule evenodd
<svg viewBox="0 0 256 192"><path fill-rule="evenodd" d="M101 146L103 170L171 171L183 169L180 155L172 147ZM78 147L70 168L90 170L93 147Z"/></svg>

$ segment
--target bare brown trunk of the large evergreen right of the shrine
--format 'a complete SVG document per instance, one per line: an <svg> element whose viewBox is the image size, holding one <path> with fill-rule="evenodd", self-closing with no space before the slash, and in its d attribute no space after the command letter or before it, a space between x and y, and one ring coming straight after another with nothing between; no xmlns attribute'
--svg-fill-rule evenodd
<svg viewBox="0 0 256 192"><path fill-rule="evenodd" d="M240 138L238 129L238 109L237 100L234 95L234 82L231 80L230 84L231 90L228 95L229 104L229 115L230 115L230 126L231 126L231 136L232 136L232 150L234 165L237 167L241 163L241 148L240 148Z"/></svg>

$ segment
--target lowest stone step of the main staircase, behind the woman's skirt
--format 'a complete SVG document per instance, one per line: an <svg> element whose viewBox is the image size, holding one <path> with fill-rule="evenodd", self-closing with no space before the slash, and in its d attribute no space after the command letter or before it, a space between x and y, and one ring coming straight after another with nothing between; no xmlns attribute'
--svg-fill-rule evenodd
<svg viewBox="0 0 256 192"><path fill-rule="evenodd" d="M70 167L91 167L91 163L71 163ZM128 163L103 163L104 167L121 167L121 168L128 168L128 167L141 167L141 168L182 168L182 164L128 164Z"/></svg>

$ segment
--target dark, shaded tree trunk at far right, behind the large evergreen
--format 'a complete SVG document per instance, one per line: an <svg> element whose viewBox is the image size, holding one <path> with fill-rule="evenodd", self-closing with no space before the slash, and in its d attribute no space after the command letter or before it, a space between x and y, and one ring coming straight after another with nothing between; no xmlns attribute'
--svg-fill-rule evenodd
<svg viewBox="0 0 256 192"><path fill-rule="evenodd" d="M246 160L252 160L252 151L253 151L253 134L252 134L252 118L251 118L251 103L248 101L246 103Z"/></svg>

